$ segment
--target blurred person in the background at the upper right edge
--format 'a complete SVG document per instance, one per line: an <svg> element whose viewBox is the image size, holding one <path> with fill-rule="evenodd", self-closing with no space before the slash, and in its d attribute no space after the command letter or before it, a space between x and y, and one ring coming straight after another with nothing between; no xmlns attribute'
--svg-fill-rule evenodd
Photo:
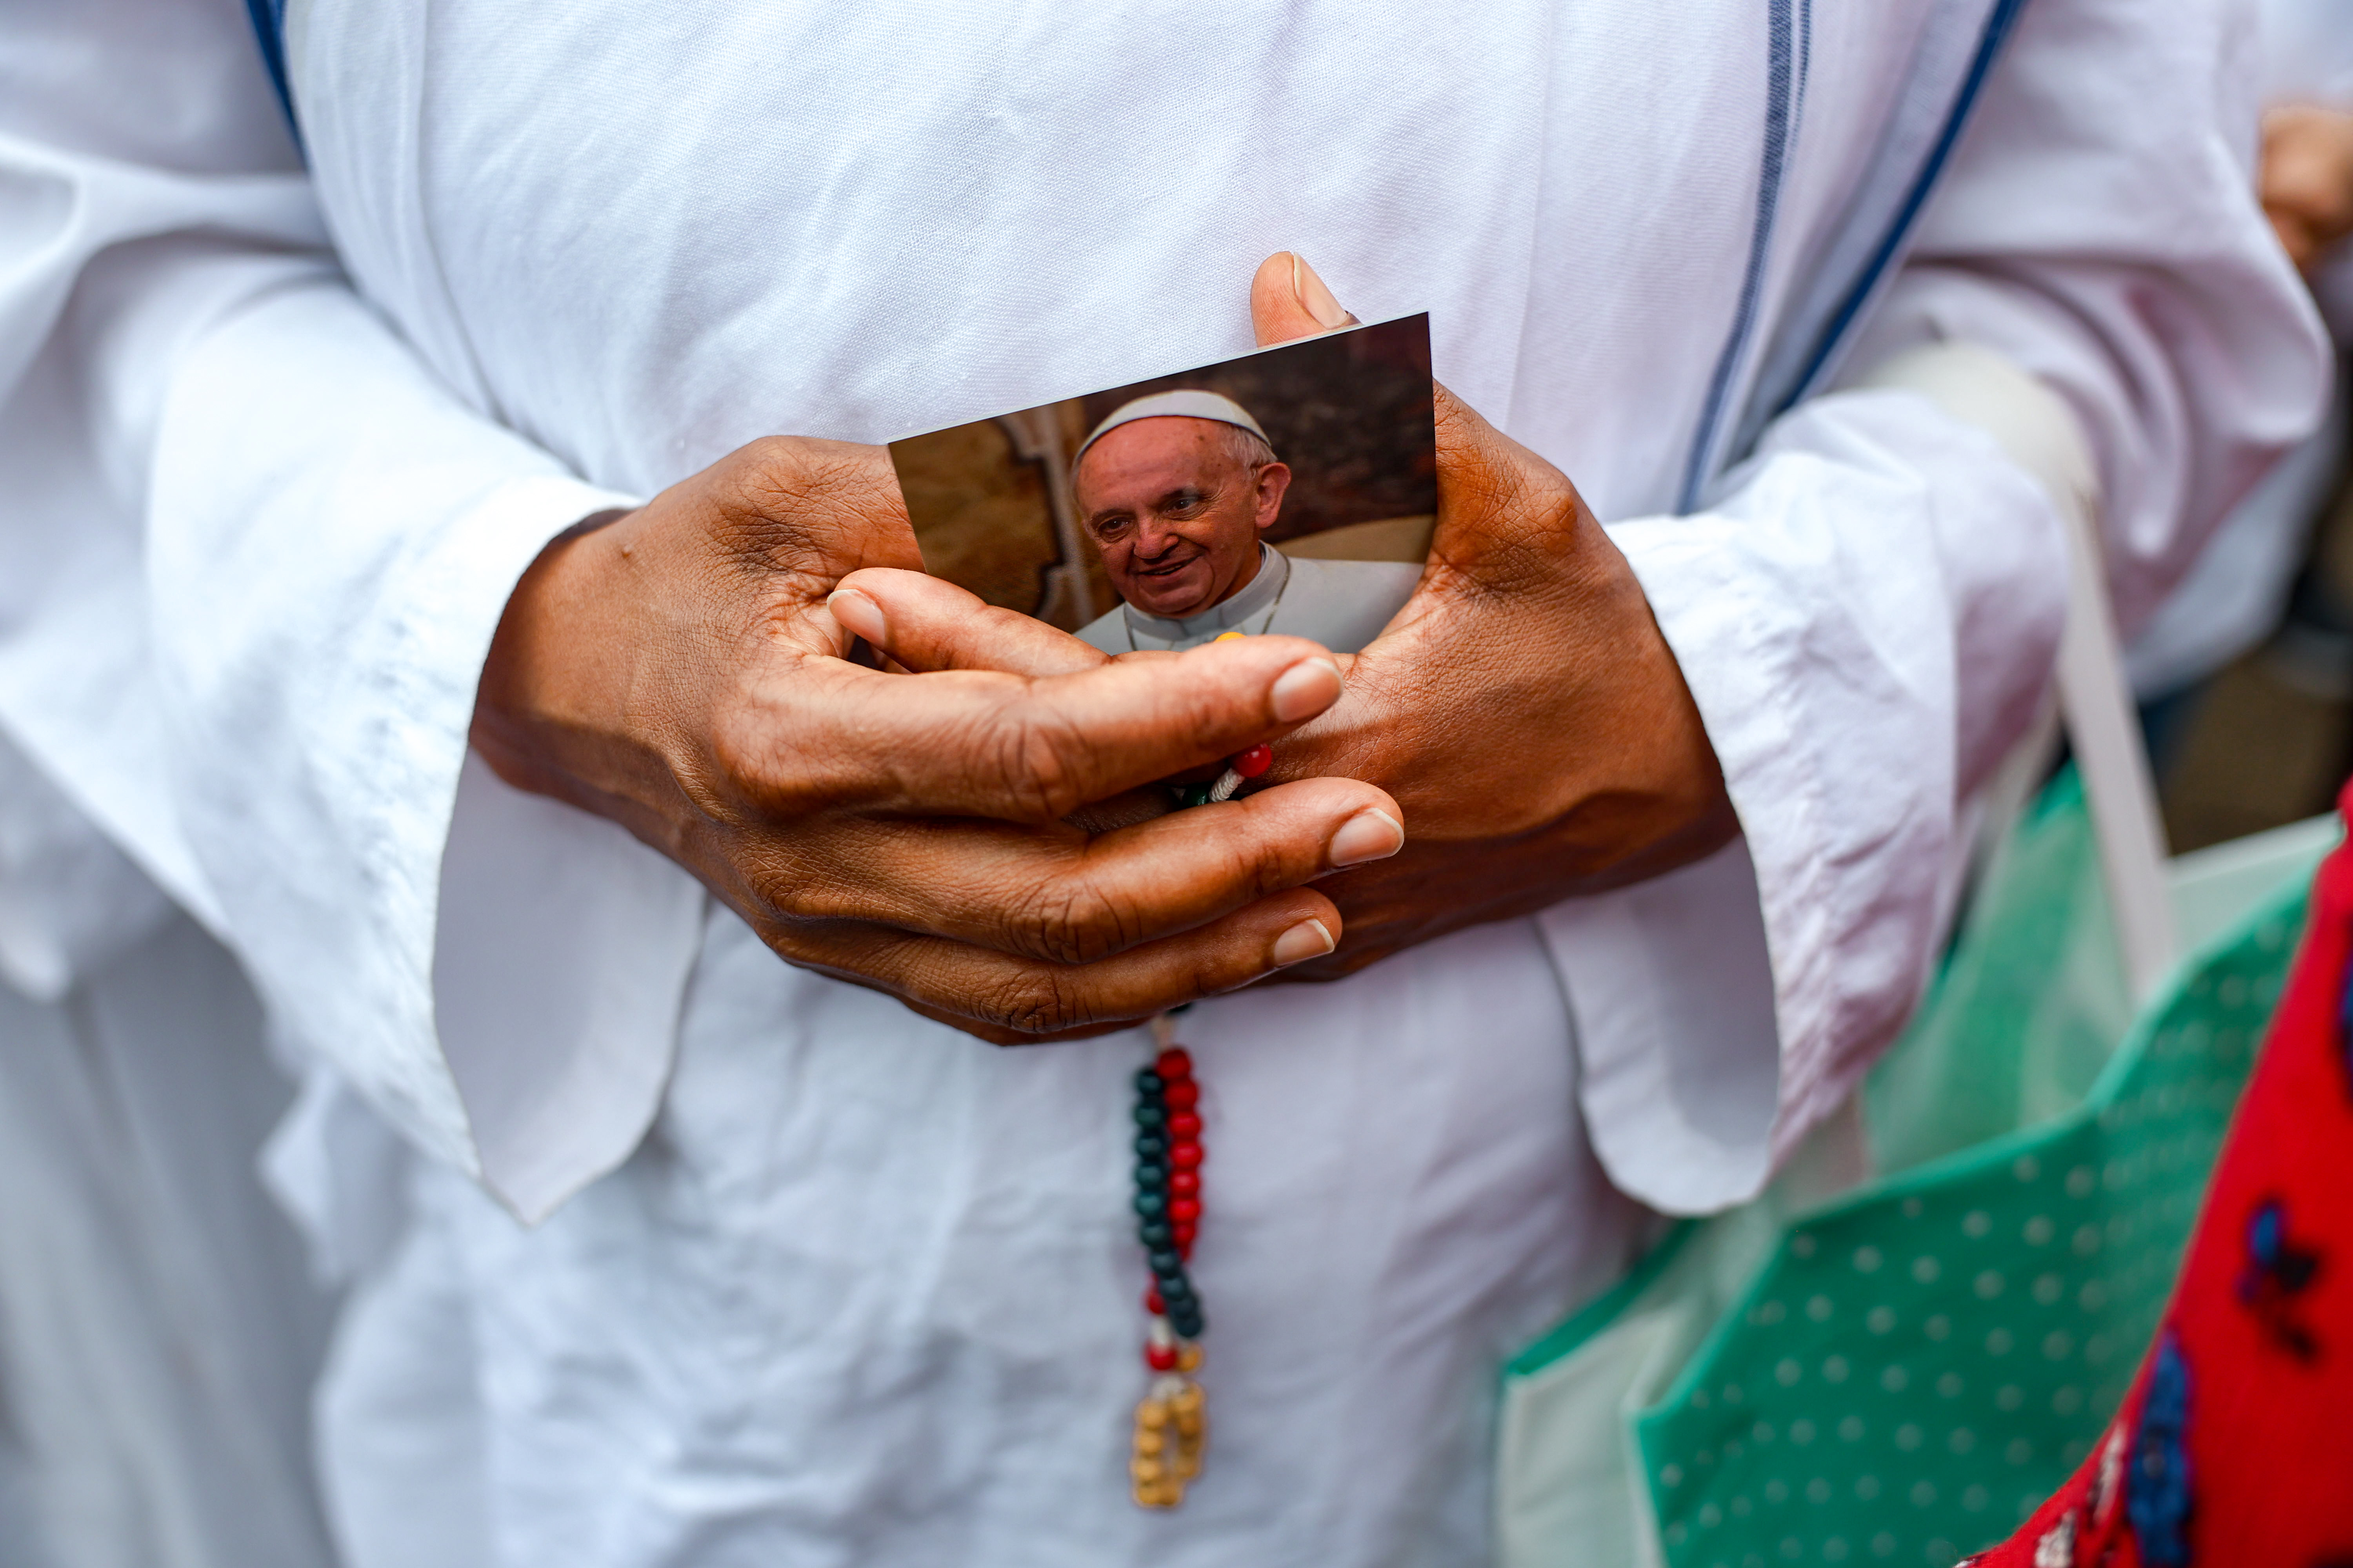
<svg viewBox="0 0 2353 1568"><path fill-rule="evenodd" d="M2217 531L2132 646L2177 851L2327 811L2353 771L2353 0L2264 0L2264 212L2339 348L2320 430Z"/></svg>

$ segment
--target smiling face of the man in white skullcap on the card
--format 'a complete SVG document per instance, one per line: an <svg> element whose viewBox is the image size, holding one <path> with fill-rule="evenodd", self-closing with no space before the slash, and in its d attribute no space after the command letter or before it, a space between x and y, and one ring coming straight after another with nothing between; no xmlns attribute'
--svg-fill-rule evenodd
<svg viewBox="0 0 2353 1568"><path fill-rule="evenodd" d="M1259 571L1259 531L1282 510L1292 470L1231 451L1214 418L1136 418L1087 447L1073 489L1087 538L1120 597L1181 621L1233 597Z"/></svg>

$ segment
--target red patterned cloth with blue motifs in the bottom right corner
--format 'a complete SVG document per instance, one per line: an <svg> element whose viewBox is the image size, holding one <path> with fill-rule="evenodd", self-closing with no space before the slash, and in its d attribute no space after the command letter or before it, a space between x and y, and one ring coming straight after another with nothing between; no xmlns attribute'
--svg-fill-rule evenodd
<svg viewBox="0 0 2353 1568"><path fill-rule="evenodd" d="M2341 846L2125 1408L1979 1568L2353 1568L2348 959Z"/></svg>

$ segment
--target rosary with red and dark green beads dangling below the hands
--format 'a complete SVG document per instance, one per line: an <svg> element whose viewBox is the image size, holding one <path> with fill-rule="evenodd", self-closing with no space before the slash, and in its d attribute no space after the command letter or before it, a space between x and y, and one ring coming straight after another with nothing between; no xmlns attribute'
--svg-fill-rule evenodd
<svg viewBox="0 0 2353 1568"><path fill-rule="evenodd" d="M1231 799L1245 778L1257 778L1273 759L1268 745L1252 745L1233 757L1217 783L1181 785L1176 799L1181 806ZM1141 1507L1172 1509L1200 1474L1200 1453L1209 1441L1200 1382L1193 1380L1207 1319L1186 1272L1200 1232L1200 1084L1193 1081L1191 1053L1176 1044L1176 1013L1153 1018L1153 1060L1136 1070L1134 1121L1136 1241L1144 1244L1153 1281L1144 1288L1144 1312L1151 1314L1144 1366L1151 1368L1151 1385L1136 1406L1127 1474Z"/></svg>

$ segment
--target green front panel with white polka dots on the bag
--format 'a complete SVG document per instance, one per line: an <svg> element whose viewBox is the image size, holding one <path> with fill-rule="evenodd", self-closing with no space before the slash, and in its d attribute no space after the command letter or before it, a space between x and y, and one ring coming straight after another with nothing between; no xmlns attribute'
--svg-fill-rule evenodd
<svg viewBox="0 0 2353 1568"><path fill-rule="evenodd" d="M2273 905L2082 1105L1795 1225L1635 1420L1673 1568L1946 1568L2099 1436L2172 1288L2301 924Z"/></svg>

